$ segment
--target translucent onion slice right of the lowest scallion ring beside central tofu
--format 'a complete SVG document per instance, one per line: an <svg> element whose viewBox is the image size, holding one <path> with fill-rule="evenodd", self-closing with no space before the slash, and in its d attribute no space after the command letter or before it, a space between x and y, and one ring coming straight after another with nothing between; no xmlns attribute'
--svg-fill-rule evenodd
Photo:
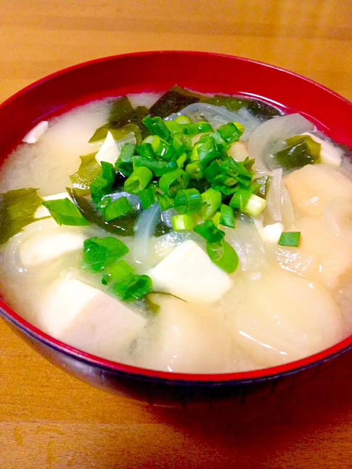
<svg viewBox="0 0 352 469"><path fill-rule="evenodd" d="M240 258L243 271L255 271L266 262L264 243L250 217L241 215L236 228L221 227L226 233L225 240L234 248Z"/></svg>

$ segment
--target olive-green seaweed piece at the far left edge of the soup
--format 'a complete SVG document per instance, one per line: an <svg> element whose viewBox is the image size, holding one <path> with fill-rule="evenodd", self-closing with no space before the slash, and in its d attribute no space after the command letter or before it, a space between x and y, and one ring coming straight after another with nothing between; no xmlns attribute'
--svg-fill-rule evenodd
<svg viewBox="0 0 352 469"><path fill-rule="evenodd" d="M37 189L17 189L0 194L0 244L36 221L34 214L43 199Z"/></svg>

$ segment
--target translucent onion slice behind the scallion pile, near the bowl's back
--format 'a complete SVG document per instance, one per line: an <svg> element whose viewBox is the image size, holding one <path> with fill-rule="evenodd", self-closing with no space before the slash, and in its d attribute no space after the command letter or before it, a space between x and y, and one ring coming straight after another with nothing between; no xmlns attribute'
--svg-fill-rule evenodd
<svg viewBox="0 0 352 469"><path fill-rule="evenodd" d="M194 122L203 121L205 119L214 130L217 130L217 128L223 124L227 124L228 122L239 122L245 127L245 132L241 138L243 140L246 140L250 133L262 122L254 117L248 109L244 107L239 111L229 111L224 106L214 106L212 104L205 103L190 104L181 111L165 117L164 120L173 121L178 116L188 116Z"/></svg>

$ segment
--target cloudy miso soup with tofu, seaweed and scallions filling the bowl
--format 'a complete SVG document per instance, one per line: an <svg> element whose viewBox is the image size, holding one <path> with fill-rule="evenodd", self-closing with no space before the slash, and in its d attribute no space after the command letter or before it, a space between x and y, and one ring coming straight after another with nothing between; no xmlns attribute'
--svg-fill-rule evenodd
<svg viewBox="0 0 352 469"><path fill-rule="evenodd" d="M76 107L23 140L0 170L0 290L52 337L224 373L351 333L352 171L303 116L174 88Z"/></svg>

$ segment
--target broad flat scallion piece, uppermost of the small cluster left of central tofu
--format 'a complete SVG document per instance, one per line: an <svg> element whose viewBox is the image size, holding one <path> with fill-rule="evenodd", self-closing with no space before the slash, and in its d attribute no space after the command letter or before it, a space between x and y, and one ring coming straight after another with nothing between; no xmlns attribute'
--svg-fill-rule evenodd
<svg viewBox="0 0 352 469"><path fill-rule="evenodd" d="M90 272L99 272L128 252L129 248L119 239L94 236L86 239L83 244L84 267Z"/></svg>

